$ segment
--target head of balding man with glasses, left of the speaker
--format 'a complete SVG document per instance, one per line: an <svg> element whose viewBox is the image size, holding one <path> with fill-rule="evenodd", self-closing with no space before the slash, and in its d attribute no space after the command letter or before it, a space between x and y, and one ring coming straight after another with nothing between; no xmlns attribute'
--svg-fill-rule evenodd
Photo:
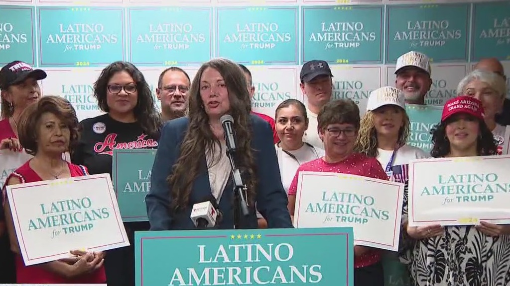
<svg viewBox="0 0 510 286"><path fill-rule="evenodd" d="M181 68L170 67L160 74L156 96L161 101L163 122L186 115L190 85L189 75Z"/></svg>

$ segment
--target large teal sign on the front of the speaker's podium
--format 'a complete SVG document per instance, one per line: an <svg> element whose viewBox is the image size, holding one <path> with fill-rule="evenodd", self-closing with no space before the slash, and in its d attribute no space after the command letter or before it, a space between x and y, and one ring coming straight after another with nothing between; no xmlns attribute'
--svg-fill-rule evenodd
<svg viewBox="0 0 510 286"><path fill-rule="evenodd" d="M353 231L343 228L135 233L136 286L350 286Z"/></svg>

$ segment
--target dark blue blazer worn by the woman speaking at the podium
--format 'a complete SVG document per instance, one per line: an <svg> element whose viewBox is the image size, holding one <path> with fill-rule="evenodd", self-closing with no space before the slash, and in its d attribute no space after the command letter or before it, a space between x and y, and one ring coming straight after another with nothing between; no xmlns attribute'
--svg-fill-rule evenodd
<svg viewBox="0 0 510 286"><path fill-rule="evenodd" d="M273 133L269 124L256 115L250 115L252 137L251 148L257 165L257 209L266 218L269 228L291 228L292 222L287 209L288 198L282 186L278 160L273 145ZM195 225L190 219L193 204L201 203L211 195L206 156L202 154L200 162L202 171L195 178L189 203L179 212L169 211L171 205L170 186L166 178L181 153L181 143L189 125L189 118L183 117L166 122L159 140L158 151L152 166L150 191L145 197L147 216L151 231L191 230ZM205 152L205 151L204 151ZM216 228L234 228L234 191L233 183L225 186L219 210L223 219ZM250 205L249 216L241 219L242 228L257 228L257 216L254 206Z"/></svg>

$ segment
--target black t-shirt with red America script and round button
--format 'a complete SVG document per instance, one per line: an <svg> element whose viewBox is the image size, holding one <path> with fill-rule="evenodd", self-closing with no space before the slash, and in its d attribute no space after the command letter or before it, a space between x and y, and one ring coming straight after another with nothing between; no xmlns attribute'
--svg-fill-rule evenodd
<svg viewBox="0 0 510 286"><path fill-rule="evenodd" d="M105 114L80 124L80 141L71 154L71 161L86 166L90 175L112 176L113 149L158 148L159 138L147 135L137 122L123 123Z"/></svg>

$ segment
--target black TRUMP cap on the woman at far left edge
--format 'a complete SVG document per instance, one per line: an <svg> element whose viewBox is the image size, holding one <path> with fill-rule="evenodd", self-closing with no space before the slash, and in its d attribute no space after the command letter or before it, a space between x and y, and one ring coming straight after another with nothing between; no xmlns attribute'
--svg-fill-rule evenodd
<svg viewBox="0 0 510 286"><path fill-rule="evenodd" d="M0 70L0 90L5 90L29 77L35 80L45 79L46 72L34 70L29 64L20 61L11 62Z"/></svg>

